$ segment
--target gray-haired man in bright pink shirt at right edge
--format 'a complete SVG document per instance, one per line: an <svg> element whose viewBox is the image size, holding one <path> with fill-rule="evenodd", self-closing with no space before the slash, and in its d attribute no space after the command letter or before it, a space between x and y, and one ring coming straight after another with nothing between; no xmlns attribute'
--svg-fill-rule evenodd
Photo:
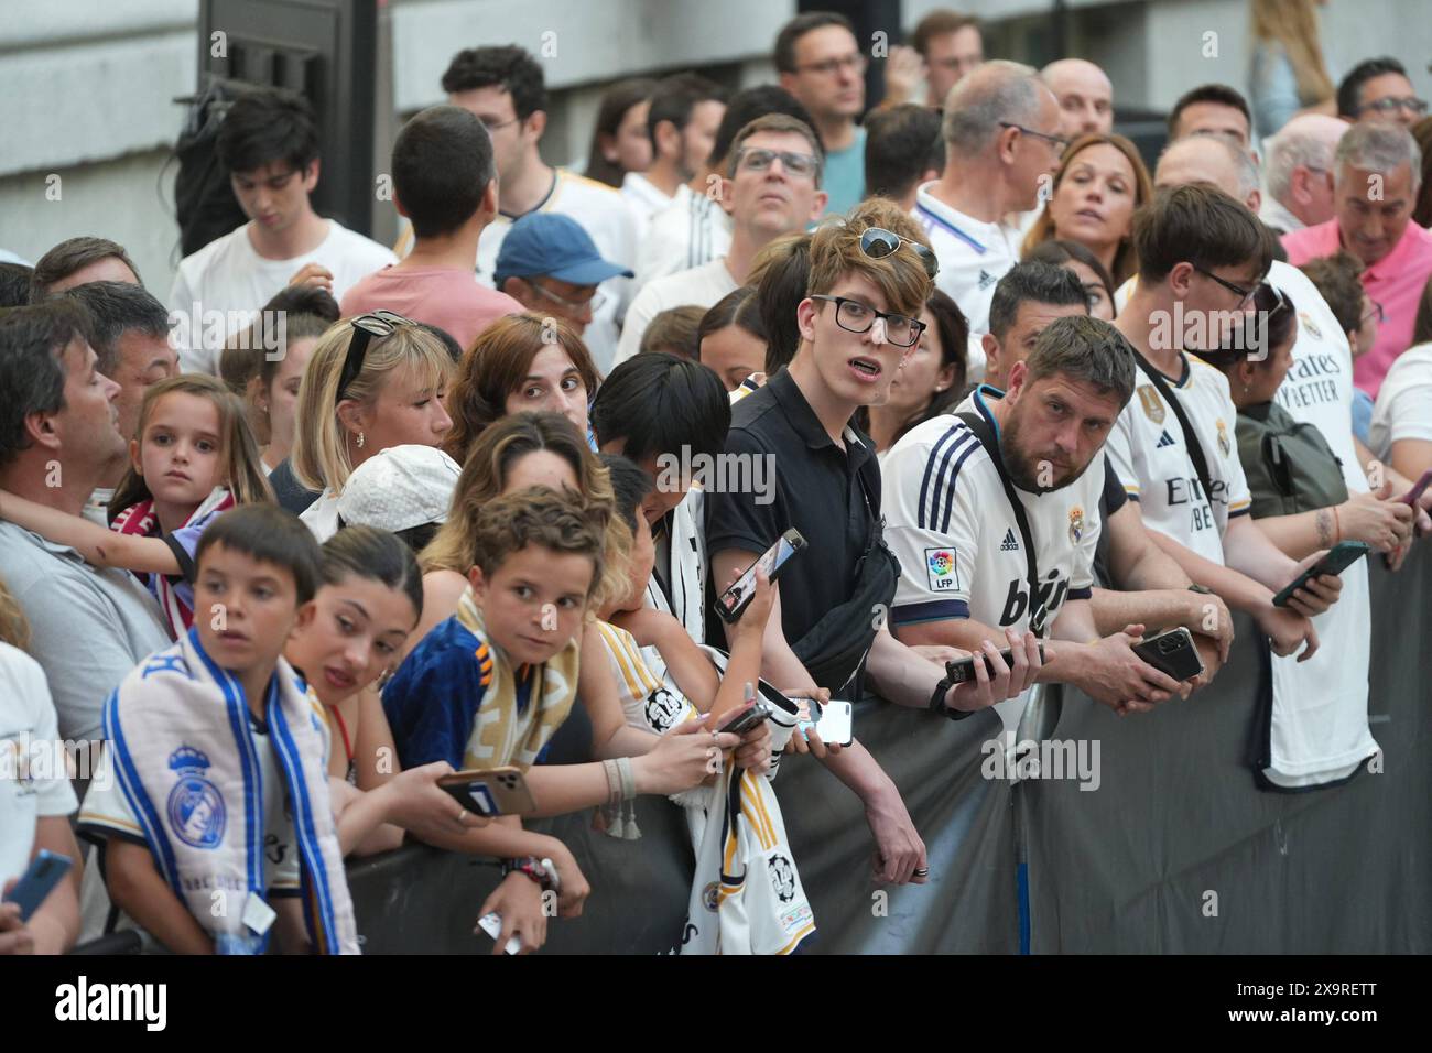
<svg viewBox="0 0 1432 1053"><path fill-rule="evenodd" d="M1290 264L1343 248L1363 264L1362 285L1382 305L1378 342L1360 355L1353 380L1373 398L1392 361L1412 342L1418 302L1432 277L1432 232L1412 221L1422 152L1402 125L1359 122L1333 156L1333 218L1285 235Z"/></svg>

